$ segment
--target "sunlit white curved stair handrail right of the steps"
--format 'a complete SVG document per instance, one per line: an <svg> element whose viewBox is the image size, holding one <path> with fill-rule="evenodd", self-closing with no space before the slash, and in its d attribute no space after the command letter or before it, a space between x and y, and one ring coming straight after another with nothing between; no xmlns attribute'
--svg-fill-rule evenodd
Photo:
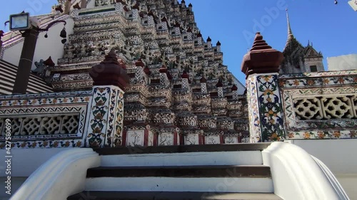
<svg viewBox="0 0 357 200"><path fill-rule="evenodd" d="M289 200L347 200L337 179L318 159L294 144L273 142L262 152L271 167L274 193Z"/></svg>

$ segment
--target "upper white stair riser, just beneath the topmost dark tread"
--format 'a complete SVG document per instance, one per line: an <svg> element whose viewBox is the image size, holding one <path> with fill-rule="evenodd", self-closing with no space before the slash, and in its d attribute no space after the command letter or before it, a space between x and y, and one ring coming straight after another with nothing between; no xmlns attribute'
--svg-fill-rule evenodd
<svg viewBox="0 0 357 200"><path fill-rule="evenodd" d="M101 156L101 167L259 165L261 151L111 154Z"/></svg>

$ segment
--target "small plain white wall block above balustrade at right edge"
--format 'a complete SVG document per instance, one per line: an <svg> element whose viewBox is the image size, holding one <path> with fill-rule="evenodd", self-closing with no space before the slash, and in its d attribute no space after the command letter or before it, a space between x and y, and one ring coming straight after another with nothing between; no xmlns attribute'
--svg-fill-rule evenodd
<svg viewBox="0 0 357 200"><path fill-rule="evenodd" d="M357 54L349 54L344 56L328 57L328 70L356 70L357 69Z"/></svg>

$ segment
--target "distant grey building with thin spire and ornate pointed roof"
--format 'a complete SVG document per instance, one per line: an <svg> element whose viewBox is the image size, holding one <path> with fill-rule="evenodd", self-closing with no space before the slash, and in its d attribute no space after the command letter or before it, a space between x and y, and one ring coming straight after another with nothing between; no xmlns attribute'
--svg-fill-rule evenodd
<svg viewBox="0 0 357 200"><path fill-rule="evenodd" d="M286 19L288 21L288 40L286 41L286 46L283 49L284 60L281 64L280 73L324 71L322 53L316 51L310 41L307 46L303 46L293 36L287 9Z"/></svg>

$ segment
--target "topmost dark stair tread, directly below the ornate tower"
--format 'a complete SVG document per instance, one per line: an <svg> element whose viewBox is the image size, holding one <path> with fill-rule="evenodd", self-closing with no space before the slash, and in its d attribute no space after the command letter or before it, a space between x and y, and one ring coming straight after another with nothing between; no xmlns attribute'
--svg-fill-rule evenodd
<svg viewBox="0 0 357 200"><path fill-rule="evenodd" d="M94 148L100 155L113 154L157 154L157 153L183 153L183 152L238 152L238 151L262 151L271 143L243 143L243 144L206 144L206 145L178 145L159 147L118 147L118 148Z"/></svg>

